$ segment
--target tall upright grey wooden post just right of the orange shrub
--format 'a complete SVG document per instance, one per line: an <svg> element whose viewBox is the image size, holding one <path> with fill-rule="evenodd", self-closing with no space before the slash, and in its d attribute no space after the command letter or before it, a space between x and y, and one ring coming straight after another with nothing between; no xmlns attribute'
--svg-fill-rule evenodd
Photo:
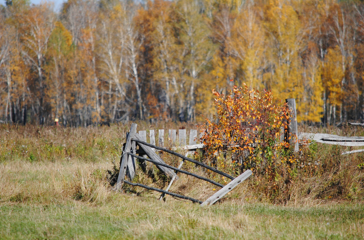
<svg viewBox="0 0 364 240"><path fill-rule="evenodd" d="M285 136L285 141L289 145L293 145L293 151L298 151L298 129L297 129L297 112L296 112L296 100L294 98L287 98L286 103L288 108L292 111L292 116L289 119L288 131Z"/></svg>

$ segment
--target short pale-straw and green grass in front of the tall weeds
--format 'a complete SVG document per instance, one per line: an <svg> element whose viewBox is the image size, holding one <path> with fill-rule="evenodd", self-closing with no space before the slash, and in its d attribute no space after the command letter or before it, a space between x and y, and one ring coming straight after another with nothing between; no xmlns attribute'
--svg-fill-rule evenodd
<svg viewBox="0 0 364 240"><path fill-rule="evenodd" d="M244 194L205 208L170 196L160 202L153 191L116 193L105 187L100 175L110 167L25 160L0 164L0 239L364 238L361 203L274 205L254 198L247 202Z"/></svg>

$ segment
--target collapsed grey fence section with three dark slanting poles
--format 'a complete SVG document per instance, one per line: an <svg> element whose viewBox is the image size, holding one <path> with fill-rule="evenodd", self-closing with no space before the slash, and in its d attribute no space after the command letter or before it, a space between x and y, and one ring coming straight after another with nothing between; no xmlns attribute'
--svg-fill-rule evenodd
<svg viewBox="0 0 364 240"><path fill-rule="evenodd" d="M184 129L181 129L184 130ZM144 134L145 131L141 131L142 134ZM153 134L154 131L150 131L152 132L151 135ZM173 132L173 131L171 131ZM183 132L183 131L181 131ZM195 131L191 131L193 134L192 136L194 136ZM196 131L197 134L197 131ZM163 134L161 134L161 136L163 136ZM182 135L183 136L183 135ZM190 135L191 136L191 135ZM159 138L160 139L160 138ZM171 139L171 138L170 138ZM152 138L150 138L151 142L153 142L153 136ZM190 143L194 143L191 142L191 137L190 137ZM195 141L195 138L192 140ZM179 142L183 142L179 141ZM137 146L139 147L139 150L137 150ZM169 154L173 154L175 156L178 156L179 158L182 159L181 163L179 164L178 167L174 167L174 166L170 166L168 164L166 164L156 153L155 153L155 149L159 150L159 151L164 151L167 152ZM139 154L139 156L137 155ZM148 158L145 157L148 156ZM148 161L153 163L159 170L161 170L165 175L167 175L168 177L170 177L171 181L168 185L168 187L166 188L166 190L163 189L158 189L155 187L150 187L150 186L146 186L143 185L141 183L133 183L133 182L129 182L125 179L125 176L127 175L130 179L134 178L135 175L135 160L141 160L142 162L139 162L139 164L143 164L143 161ZM202 176L199 176L197 174L191 173L189 171L184 171L181 170L182 164L184 161L189 161L192 163L195 163L196 165L200 166L200 167L204 167L206 169L209 169L217 174L220 174L226 178L232 179L231 182L229 182L226 186L215 182L212 179L209 178L205 178ZM207 200L205 200L204 202L191 198L191 197L187 197L187 196L183 196L180 194L176 194L176 193L172 193L169 191L170 186L172 185L173 181L175 179L178 179L177 177L177 172L179 173L183 173L183 174L187 174L190 176L193 176L195 178L198 179L202 179L206 182L212 183L215 186L221 187L221 189L219 191L217 191L215 194L213 194L211 197L207 198ZM250 170L246 170L243 174L239 175L238 177L234 178L232 176L230 176L227 173L224 173L222 171L219 171L217 169L215 169L214 167L211 167L209 165L206 165L202 162L198 162L194 159L191 158L187 158L186 156L179 154L177 152L174 152L172 150L163 148L161 146L156 146L155 144L152 143L147 143L145 141L145 136L140 135L139 133L137 133L137 124L131 124L131 128L130 128L130 132L127 133L127 139L126 139L126 143L124 144L124 149L123 149L123 154L120 158L120 170L119 170L119 175L118 175L118 181L116 182L116 186L115 189L119 190L122 186L123 183L126 183L128 185L132 185L132 186L139 186L139 187L143 187L145 189L149 189L149 190L154 190L154 191L158 191L161 192L162 195L160 197L160 200L163 199L164 194L168 194L174 197L178 197L178 198L183 198L186 200L190 200L196 203L201 204L201 206L204 205L211 205L214 204L216 201L218 201L219 199L221 199L223 196L225 196L225 194L229 193L229 191L233 190L234 187L236 187L239 183L241 183L242 181L244 181L246 178L248 178L250 175L252 174L252 171Z"/></svg>

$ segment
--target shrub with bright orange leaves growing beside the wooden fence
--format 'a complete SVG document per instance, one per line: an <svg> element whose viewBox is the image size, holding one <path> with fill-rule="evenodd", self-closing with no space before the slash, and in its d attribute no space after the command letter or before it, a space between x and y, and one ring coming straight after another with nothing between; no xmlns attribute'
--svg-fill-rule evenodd
<svg viewBox="0 0 364 240"><path fill-rule="evenodd" d="M291 115L286 104L279 105L271 91L259 92L246 85L233 86L226 95L214 89L213 94L216 123L206 119L200 131L205 152L215 166L235 172L250 169L271 177L278 168L290 167L294 159L287 154L287 143L280 141ZM220 151L225 158L219 156Z"/></svg>

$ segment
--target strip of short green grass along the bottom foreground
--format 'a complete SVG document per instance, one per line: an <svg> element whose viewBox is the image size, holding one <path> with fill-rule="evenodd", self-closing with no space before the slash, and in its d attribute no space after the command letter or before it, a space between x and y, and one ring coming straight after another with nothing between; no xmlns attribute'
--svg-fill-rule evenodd
<svg viewBox="0 0 364 240"><path fill-rule="evenodd" d="M363 205L197 204L119 194L101 206L2 204L1 239L363 239Z"/></svg>

